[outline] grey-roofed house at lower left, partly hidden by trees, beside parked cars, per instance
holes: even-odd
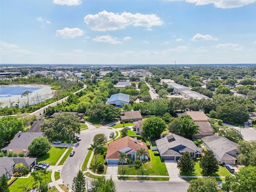
[[[25,157],[0,157],[0,175],[6,175],[7,179],[10,179],[13,172],[17,171],[14,165],[22,163],[27,166],[29,170],[36,164],[36,158],[25,158]]]

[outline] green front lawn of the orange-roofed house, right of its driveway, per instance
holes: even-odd
[[[150,162],[143,164],[144,175],[168,175],[164,162],[161,162],[160,156],[154,156],[152,150],[148,150],[150,154]],[[126,175],[141,175],[141,167],[123,166]],[[122,166],[118,166],[118,174],[122,174]]]

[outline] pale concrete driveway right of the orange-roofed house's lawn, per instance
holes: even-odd
[[[165,163],[166,169],[168,171],[168,174],[170,176],[169,181],[185,182],[180,177],[180,169],[177,167],[176,161],[174,161],[174,160],[165,160],[164,163]]]

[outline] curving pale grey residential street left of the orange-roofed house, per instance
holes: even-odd
[[[80,133],[81,140],[77,142],[74,147],[75,154],[73,157],[68,157],[65,161],[62,170],[60,171],[60,177],[64,184],[68,187],[72,187],[73,178],[76,176],[78,170],[82,169],[82,164],[88,153],[88,147],[92,144],[94,135],[98,133],[104,133],[109,137],[112,129],[108,128],[92,128],[84,130]]]

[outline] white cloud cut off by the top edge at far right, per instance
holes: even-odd
[[[178,1],[178,0],[169,0],[169,1]],[[214,4],[216,8],[222,8],[222,9],[242,7],[242,6],[256,2],[256,0],[185,0],[185,1],[188,3],[194,3],[196,5]]]

